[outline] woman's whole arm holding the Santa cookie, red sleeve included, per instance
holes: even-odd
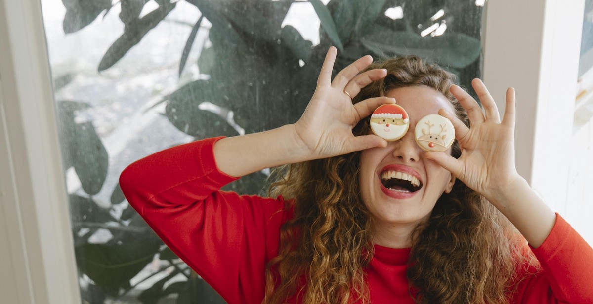
[[[278,252],[280,225],[291,215],[283,201],[219,191],[242,175],[276,165],[385,146],[375,135],[352,128],[380,104],[378,97],[356,105],[361,87],[385,76],[359,73],[365,56],[331,81],[336,49],[327,53],[315,94],[295,124],[267,132],[208,139],[176,146],[127,167],[120,185],[130,205],[180,258],[229,303],[260,303],[265,264]]]

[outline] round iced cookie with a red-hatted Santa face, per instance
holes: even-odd
[[[371,130],[386,140],[398,140],[410,127],[406,110],[397,104],[384,104],[371,115]]]

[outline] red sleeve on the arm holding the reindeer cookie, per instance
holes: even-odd
[[[512,303],[593,303],[593,249],[563,219],[531,248],[541,270],[521,282]]]

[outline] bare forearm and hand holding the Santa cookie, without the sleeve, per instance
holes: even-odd
[[[240,177],[264,168],[387,145],[387,141],[376,135],[355,137],[352,129],[379,105],[395,100],[377,97],[353,105],[345,94],[346,91],[356,96],[361,88],[384,78],[387,71],[374,69],[360,73],[372,62],[371,56],[364,56],[337,73],[332,81],[336,52],[335,47],[327,52],[315,93],[297,123],[216,143],[216,163],[222,172]]]

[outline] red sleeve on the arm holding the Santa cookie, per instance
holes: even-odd
[[[122,172],[120,186],[165,244],[228,303],[260,303],[265,265],[278,253],[289,215],[282,198],[220,191],[237,178],[216,167],[218,139],[147,156]]]

